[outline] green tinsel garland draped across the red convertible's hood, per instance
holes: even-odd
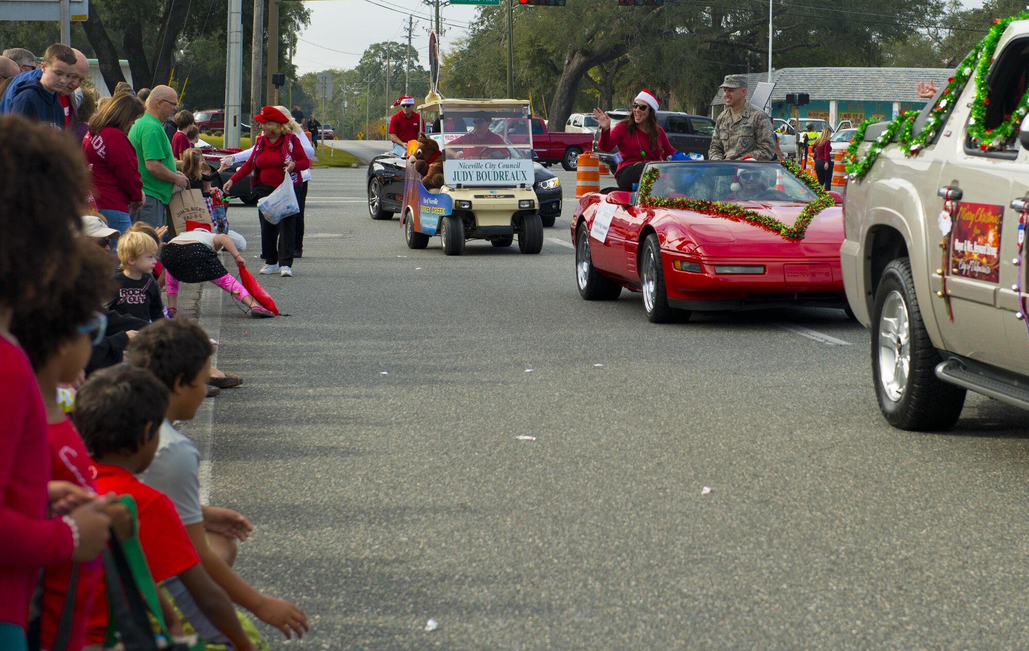
[[[814,192],[816,196],[814,201],[808,203],[808,205],[801,210],[801,214],[796,217],[796,221],[792,226],[786,226],[774,217],[761,215],[760,213],[755,213],[754,210],[748,210],[747,208],[739,206],[735,203],[650,196],[650,190],[653,188],[653,184],[661,174],[661,170],[657,166],[651,166],[650,169],[643,175],[643,178],[640,179],[639,205],[643,207],[691,210],[694,213],[701,213],[703,215],[719,217],[733,221],[743,220],[753,224],[754,226],[765,228],[773,233],[781,235],[784,239],[804,239],[804,235],[808,230],[808,226],[811,225],[811,221],[815,219],[816,215],[825,208],[836,205],[836,199],[833,199],[832,195],[822,188],[818,181],[815,180],[809,171],[802,170],[796,163],[783,160],[782,166],[793,175],[801,183],[807,186],[809,190]]]

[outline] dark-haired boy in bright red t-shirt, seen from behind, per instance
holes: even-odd
[[[201,566],[175,505],[135,476],[153,459],[167,410],[165,385],[150,372],[129,365],[94,373],[75,396],[75,423],[96,460],[97,488],[136,499],[139,541],[153,580],[177,576],[201,611],[232,641],[233,649],[253,651],[225,591]],[[86,644],[102,644],[106,630],[107,596],[101,583]]]

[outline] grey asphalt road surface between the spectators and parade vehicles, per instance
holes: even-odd
[[[295,276],[260,277],[289,316],[204,290],[245,378],[187,428],[205,494],[313,622],[273,648],[1029,646],[1026,413],[890,428],[841,311],[582,301],[560,175],[540,255],[447,258],[368,219],[363,169],[319,169]],[[256,269],[256,210],[228,219]]]

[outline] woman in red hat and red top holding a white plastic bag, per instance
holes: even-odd
[[[290,129],[288,114],[267,106],[254,116],[254,121],[260,125],[260,136],[247,162],[225,182],[223,191],[226,195],[233,184],[251,173],[254,176],[254,191],[259,197],[272,194],[287,174],[296,188],[304,182],[300,173],[311,167],[311,159],[305,153],[303,144]],[[278,224],[270,224],[261,216],[260,238],[261,250],[267,255],[260,272],[278,271],[279,275],[292,276],[296,216],[283,218]]]

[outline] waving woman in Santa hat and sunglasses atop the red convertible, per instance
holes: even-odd
[[[658,100],[644,88],[633,101],[632,115],[611,128],[611,118],[600,109],[593,110],[600,125],[601,151],[618,150],[622,161],[614,170],[620,190],[632,190],[640,182],[648,160],[665,160],[675,153],[665,129],[658,126]]]

